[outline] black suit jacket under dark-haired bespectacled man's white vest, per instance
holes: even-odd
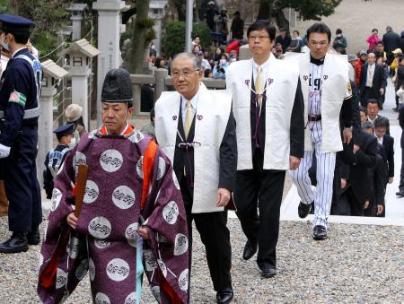
[[[254,78],[251,77],[251,87],[255,91]],[[265,94],[264,94],[265,95]],[[255,102],[255,93],[251,91],[250,96],[250,126],[251,126],[251,149],[252,158],[254,159],[256,152],[260,151],[261,158],[264,155],[265,148],[265,120],[266,120],[266,102],[264,98],[261,105],[261,113],[257,109]],[[257,125],[257,117],[259,123]],[[256,132],[256,126],[258,131]],[[273,130],[277,132],[277,130]],[[304,155],[304,100],[300,79],[297,83],[296,92],[294,95],[294,107],[290,118],[290,155],[303,158]],[[262,161],[262,160],[261,160]],[[259,161],[259,162],[261,162]]]

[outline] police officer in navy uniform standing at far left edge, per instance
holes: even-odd
[[[35,159],[42,67],[26,46],[34,22],[9,14],[0,14],[0,22],[0,43],[12,54],[0,82],[0,169],[13,231],[0,244],[0,253],[17,253],[40,243],[42,209]]]

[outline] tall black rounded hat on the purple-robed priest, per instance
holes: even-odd
[[[101,91],[102,102],[132,102],[130,74],[123,68],[112,69],[105,76]]]

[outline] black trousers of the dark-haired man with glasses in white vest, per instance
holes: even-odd
[[[259,244],[257,264],[260,268],[277,265],[279,213],[285,183],[285,170],[262,168],[263,158],[256,152],[253,169],[237,171],[234,190],[242,230],[247,239]]]

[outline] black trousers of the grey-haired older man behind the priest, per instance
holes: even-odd
[[[191,213],[193,188],[185,178],[180,182],[182,199],[187,212],[189,231],[189,278],[192,261],[192,221],[195,221],[200,239],[205,246],[206,260],[215,291],[232,287],[230,268],[232,267],[232,248],[230,231],[227,228],[227,211],[217,213]]]

